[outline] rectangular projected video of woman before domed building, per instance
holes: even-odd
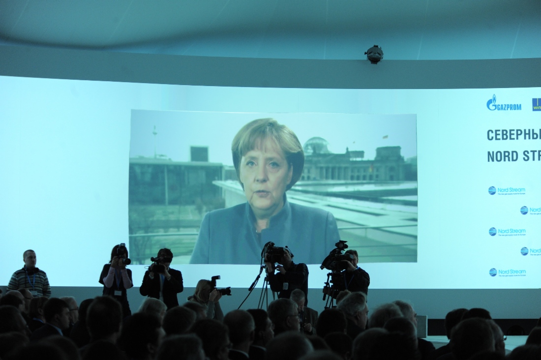
[[[266,118],[298,150],[255,134],[234,163],[235,135]],[[321,264],[339,239],[360,263],[417,261],[415,115],[132,110],[130,132],[135,264],[163,247],[177,264],[260,264],[268,241]]]

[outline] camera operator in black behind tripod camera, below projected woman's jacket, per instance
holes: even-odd
[[[289,299],[291,292],[300,289],[305,293],[305,305],[308,304],[308,267],[306,264],[293,263],[293,254],[287,248],[283,248],[282,257],[278,266],[274,267],[271,256],[265,254],[265,265],[267,266],[267,280],[271,290],[278,292],[279,299]],[[277,261],[278,262],[278,261]],[[274,273],[278,270],[278,273]]]

